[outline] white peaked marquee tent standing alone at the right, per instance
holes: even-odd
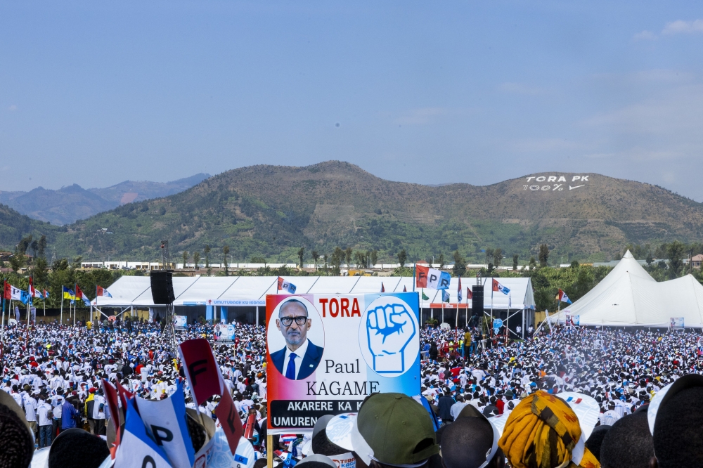
[[[567,314],[581,325],[669,327],[683,318],[685,327],[703,326],[703,286],[685,275],[657,282],[630,251],[593,290],[550,320],[565,323]]]

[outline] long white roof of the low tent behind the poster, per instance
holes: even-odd
[[[286,276],[297,294],[364,294],[413,290],[413,278],[400,276]],[[277,276],[195,276],[173,279],[174,306],[264,306],[266,294],[276,294]],[[534,294],[529,278],[496,278],[510,289],[510,294],[494,292],[491,302],[491,278],[484,282],[484,308],[512,309],[534,308]],[[462,304],[466,304],[466,288],[476,284],[473,278],[462,278]],[[457,304],[459,278],[451,278],[449,303]],[[151,280],[148,276],[122,276],[108,288],[112,297],[98,297],[97,305],[103,307],[153,307]],[[420,307],[439,307],[441,292],[424,290],[429,300],[420,297]],[[431,305],[432,304],[432,305]],[[471,304],[471,301],[468,301]],[[449,305],[448,305],[449,306]]]

